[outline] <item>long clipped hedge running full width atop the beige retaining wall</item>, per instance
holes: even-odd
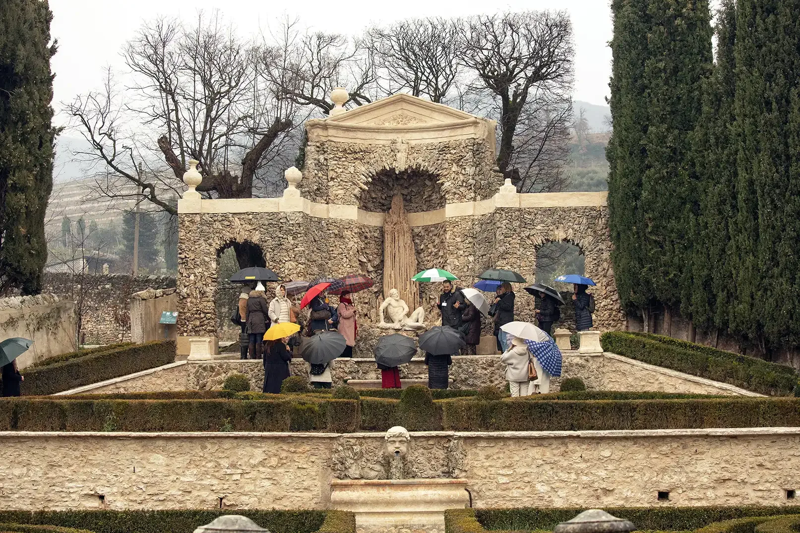
[[[800,399],[0,399],[0,431],[585,431],[800,427]],[[248,395],[250,393],[238,393]],[[564,393],[577,394],[577,393]],[[586,394],[586,393],[582,393]],[[83,398],[86,398],[83,397]]]

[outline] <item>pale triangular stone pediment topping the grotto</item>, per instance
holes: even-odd
[[[349,126],[436,126],[464,120],[474,115],[450,106],[429,102],[408,94],[394,94],[377,102],[359,106],[328,118],[326,122]]]

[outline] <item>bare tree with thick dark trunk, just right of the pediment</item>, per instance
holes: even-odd
[[[462,62],[499,101],[498,167],[519,186],[522,176],[514,166],[514,145],[519,139],[518,126],[526,115],[533,119],[534,128],[555,134],[553,142],[560,141],[563,130],[553,120],[564,118],[567,128],[572,122],[574,48],[570,18],[564,11],[469,18],[462,31],[462,50]],[[530,100],[534,100],[532,107]],[[564,112],[567,102],[569,114]],[[523,135],[522,139],[530,138],[531,146],[539,146],[534,154],[545,154],[549,143],[541,134],[535,137]],[[531,165],[530,156],[527,159]]]

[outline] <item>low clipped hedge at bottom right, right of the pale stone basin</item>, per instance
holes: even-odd
[[[630,520],[638,531],[697,530],[697,533],[753,533],[754,527],[761,523],[766,525],[770,520],[777,518],[776,515],[800,515],[800,506],[602,507],[602,509],[617,518]],[[586,508],[450,509],[445,511],[445,531],[446,533],[553,531],[558,523],[573,519],[583,511],[586,511]],[[787,532],[760,531],[759,533]]]

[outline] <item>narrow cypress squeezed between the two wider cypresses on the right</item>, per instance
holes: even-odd
[[[695,324],[726,329],[733,274],[729,224],[736,214],[734,0],[722,0],[717,18],[716,63],[703,84],[702,119],[694,132],[699,213],[692,250],[691,294],[683,302],[690,303]]]

